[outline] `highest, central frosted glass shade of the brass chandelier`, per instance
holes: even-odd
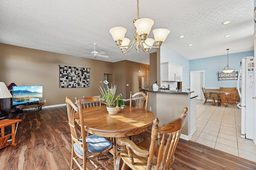
[[[153,24],[154,21],[149,18],[140,18],[134,22],[134,25],[139,35],[149,34]]]

